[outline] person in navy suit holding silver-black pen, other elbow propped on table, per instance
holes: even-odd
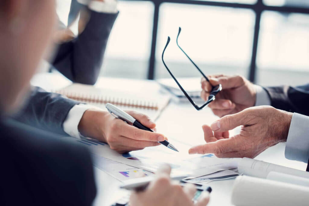
[[[66,27],[57,18],[57,29],[53,33],[56,52],[47,61],[75,83],[95,84],[118,13],[116,0],[73,0],[68,18],[69,26]],[[77,36],[70,30],[76,20]],[[155,129],[155,123],[146,115],[134,111],[128,113],[146,127]],[[143,131],[115,119],[106,110],[46,92],[39,87],[32,87],[28,103],[14,118],[24,124],[64,136],[80,138],[83,135],[95,138],[108,143],[110,148],[120,153],[158,146],[158,141],[165,139],[162,134]]]

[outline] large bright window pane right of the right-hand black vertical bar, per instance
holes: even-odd
[[[309,15],[265,11],[257,54],[259,84],[303,84],[309,75]]]

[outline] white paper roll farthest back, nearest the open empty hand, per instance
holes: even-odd
[[[258,161],[246,157],[242,158],[239,161],[238,171],[239,173],[259,178],[266,178],[271,171],[280,172],[283,174],[290,174],[302,178],[309,178],[309,172],[275,165],[268,162]]]

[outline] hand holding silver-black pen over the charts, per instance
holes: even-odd
[[[155,129],[155,123],[144,114],[127,111],[146,127]],[[110,148],[120,153],[140,150],[145,147],[158,146],[158,141],[165,137],[156,132],[150,132],[133,127],[124,121],[114,118],[108,112],[88,109],[78,124],[78,131],[83,135],[106,142]]]

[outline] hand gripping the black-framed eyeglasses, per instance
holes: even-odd
[[[210,75],[212,85],[222,85],[222,91],[216,95],[216,99],[208,107],[219,117],[227,114],[235,114],[248,107],[252,107],[256,101],[256,89],[254,84],[242,76]],[[201,97],[205,101],[211,91],[211,84],[205,78],[201,80]]]

